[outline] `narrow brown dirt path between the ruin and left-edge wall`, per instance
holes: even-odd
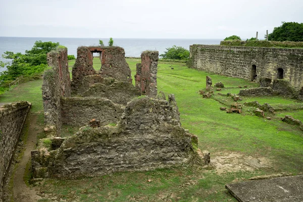
[[[30,151],[34,149],[37,141],[37,133],[41,131],[41,129],[38,129],[39,126],[36,124],[37,115],[29,113],[28,116],[29,129],[27,143],[24,145],[24,155],[14,174],[14,201],[18,202],[37,201],[41,198],[40,196],[36,195],[36,192],[33,189],[27,187],[23,180],[26,164],[28,161],[30,161]]]

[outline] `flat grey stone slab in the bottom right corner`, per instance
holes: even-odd
[[[250,180],[225,188],[240,202],[303,201],[303,175]]]

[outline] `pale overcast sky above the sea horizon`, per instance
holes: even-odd
[[[0,36],[250,38],[303,22],[303,0],[0,0]]]

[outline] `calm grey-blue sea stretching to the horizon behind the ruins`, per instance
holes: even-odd
[[[0,37],[0,60],[5,61],[2,55],[6,51],[14,53],[25,53],[30,50],[35,41],[60,42],[68,48],[68,55],[77,57],[77,47],[81,45],[98,45],[99,39],[107,45],[109,38],[39,38],[39,37]],[[125,49],[125,56],[140,57],[141,52],[146,50],[159,51],[163,54],[165,48],[173,45],[189,49],[192,44],[220,44],[221,39],[135,39],[135,38],[114,38],[114,45]],[[0,69],[2,71],[4,69]]]

